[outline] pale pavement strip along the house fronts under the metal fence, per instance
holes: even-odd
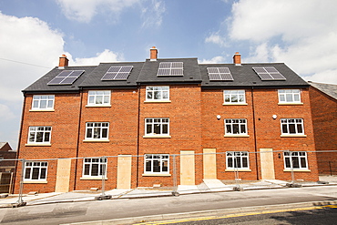
[[[291,184],[295,184],[291,186]],[[263,179],[255,181],[244,180],[226,180],[204,179],[199,185],[179,185],[177,189],[167,187],[144,187],[137,189],[110,189],[104,193],[100,190],[75,190],[66,193],[50,192],[50,193],[31,193],[22,195],[20,201],[19,196],[0,194],[0,208],[15,208],[22,205],[41,205],[59,202],[76,202],[100,199],[133,199],[133,198],[149,198],[163,197],[172,195],[183,195],[193,193],[207,193],[220,191],[241,191],[252,189],[284,189],[337,185],[336,176],[322,176],[318,182],[306,182],[297,180],[289,182],[279,179]],[[24,204],[22,204],[24,202]]]

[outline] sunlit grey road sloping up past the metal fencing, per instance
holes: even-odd
[[[114,220],[139,217],[149,220],[151,215],[161,218],[178,218],[210,215],[217,210],[230,213],[242,209],[258,210],[259,207],[301,202],[335,202],[336,186],[293,189],[261,189],[248,191],[214,192],[147,199],[110,199],[101,201],[56,203],[26,206],[17,209],[0,209],[0,221],[5,224],[61,224],[92,220]],[[250,208],[247,208],[250,207]],[[231,210],[230,210],[231,209]],[[194,212],[198,211],[198,212]],[[181,214],[179,215],[181,216]],[[152,218],[152,220],[156,220]],[[158,220],[158,219],[157,219]]]

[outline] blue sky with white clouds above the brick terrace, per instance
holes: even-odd
[[[337,84],[336,0],[0,0],[0,142],[17,148],[22,90],[58,66],[198,57],[281,62]]]

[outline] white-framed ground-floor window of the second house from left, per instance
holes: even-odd
[[[83,177],[102,177],[106,176],[106,172],[107,159],[84,159]]]

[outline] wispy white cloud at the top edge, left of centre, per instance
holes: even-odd
[[[97,14],[118,17],[121,11],[140,0],[56,0],[68,19],[88,23]]]

